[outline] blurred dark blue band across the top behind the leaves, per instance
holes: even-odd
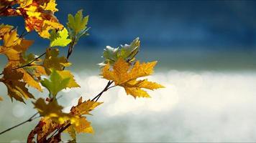
[[[118,46],[140,36],[144,46],[163,49],[256,49],[255,1],[57,2],[56,16],[62,23],[78,9],[90,15],[91,35],[80,42],[84,48]],[[21,18],[1,22],[23,25]]]

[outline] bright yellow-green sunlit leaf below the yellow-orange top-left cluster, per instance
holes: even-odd
[[[50,33],[50,46],[67,46],[71,42],[71,39],[68,39],[68,30],[63,29],[58,32],[52,30]]]

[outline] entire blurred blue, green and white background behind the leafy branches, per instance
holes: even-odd
[[[165,89],[150,99],[127,96],[116,87],[100,99],[104,104],[88,117],[95,134],[78,142],[256,142],[256,2],[255,1],[68,1],[57,0],[56,16],[83,9],[90,36],[79,41],[70,61],[81,88],[66,89],[65,111],[78,98],[90,99],[104,88],[99,76],[105,46],[129,44],[137,36],[137,59],[157,60],[155,82]],[[1,23],[24,30],[22,17],[1,17]],[[49,43],[32,32],[29,49],[41,54]],[[62,49],[65,55],[67,49]],[[6,59],[1,56],[1,69]],[[29,106],[6,96],[0,85],[0,130],[34,114]],[[31,89],[38,97],[45,97]],[[24,142],[36,122],[0,136],[0,142]],[[64,137],[68,139],[68,135]]]

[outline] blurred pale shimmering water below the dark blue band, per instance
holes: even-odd
[[[40,53],[40,51],[39,51]],[[206,54],[207,53],[207,54]],[[79,97],[90,99],[106,84],[99,76],[101,51],[78,50],[70,61],[81,88],[60,94],[65,112]],[[95,134],[79,134],[78,142],[255,142],[255,54],[251,52],[183,52],[142,49],[138,59],[158,60],[150,80],[165,89],[150,91],[150,99],[134,99],[124,89],[113,88],[88,117]],[[1,59],[1,67],[4,66]],[[27,105],[6,96],[0,86],[0,129],[6,129],[34,114]],[[45,97],[30,90],[36,97]],[[0,142],[25,142],[36,122],[24,124],[0,136]],[[68,140],[68,135],[63,137]]]

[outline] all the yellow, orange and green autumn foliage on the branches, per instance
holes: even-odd
[[[163,88],[160,84],[141,79],[153,74],[157,61],[141,63],[135,59],[140,51],[140,39],[137,38],[131,44],[117,48],[106,46],[104,61],[99,64],[101,77],[109,80],[106,87],[93,99],[83,100],[81,97],[69,113],[63,112],[63,107],[58,104],[58,93],[63,89],[80,87],[66,68],[71,65],[68,58],[79,39],[88,36],[88,16],[83,16],[82,11],[74,16],[69,14],[67,24],[63,25],[54,16],[58,11],[55,0],[1,0],[0,4],[0,16],[22,16],[27,31],[18,35],[14,26],[0,25],[0,54],[8,59],[0,82],[6,85],[6,94],[12,101],[16,99],[34,104],[37,113],[27,122],[41,118],[28,135],[27,142],[61,142],[63,133],[70,134],[69,142],[76,142],[76,134],[93,133],[91,122],[86,117],[103,103],[98,102],[99,98],[112,87],[123,87],[134,98],[150,97],[145,89]],[[36,31],[40,37],[50,41],[40,56],[27,54],[33,41],[24,39],[24,36],[30,31]],[[67,47],[66,56],[59,55],[60,46]],[[39,92],[43,92],[42,87],[45,87],[48,91],[45,96],[35,99],[28,87]]]

